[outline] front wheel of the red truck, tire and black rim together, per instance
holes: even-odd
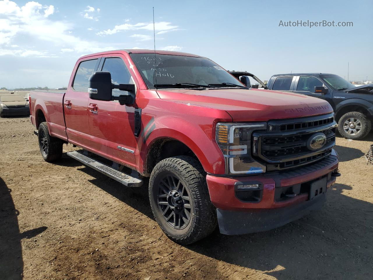
[[[194,243],[216,228],[216,209],[203,173],[190,156],[164,159],[151,172],[151,209],[164,233],[176,243]]]

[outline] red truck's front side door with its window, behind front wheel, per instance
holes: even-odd
[[[103,56],[102,60],[98,71],[109,71],[113,84],[134,84],[124,56]],[[113,96],[123,93],[113,89]],[[88,108],[94,152],[135,168],[134,105],[120,105],[117,100],[88,99]]]

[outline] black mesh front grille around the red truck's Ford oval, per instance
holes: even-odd
[[[333,114],[300,119],[269,121],[266,132],[254,133],[254,157],[264,161],[267,171],[294,168],[330,155],[335,145],[336,123]],[[316,133],[326,136],[319,150],[307,141]]]

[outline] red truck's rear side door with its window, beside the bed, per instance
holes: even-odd
[[[63,101],[69,142],[83,148],[89,148],[91,143],[88,121],[88,78],[97,69],[100,59],[101,56],[92,56],[76,63],[74,78]]]

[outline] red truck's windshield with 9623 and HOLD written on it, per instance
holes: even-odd
[[[159,54],[154,57],[150,53],[131,53],[131,58],[148,88],[156,88],[156,83],[184,84],[178,87],[187,87],[185,84],[232,86],[229,83],[242,86],[236,78],[207,58]]]

